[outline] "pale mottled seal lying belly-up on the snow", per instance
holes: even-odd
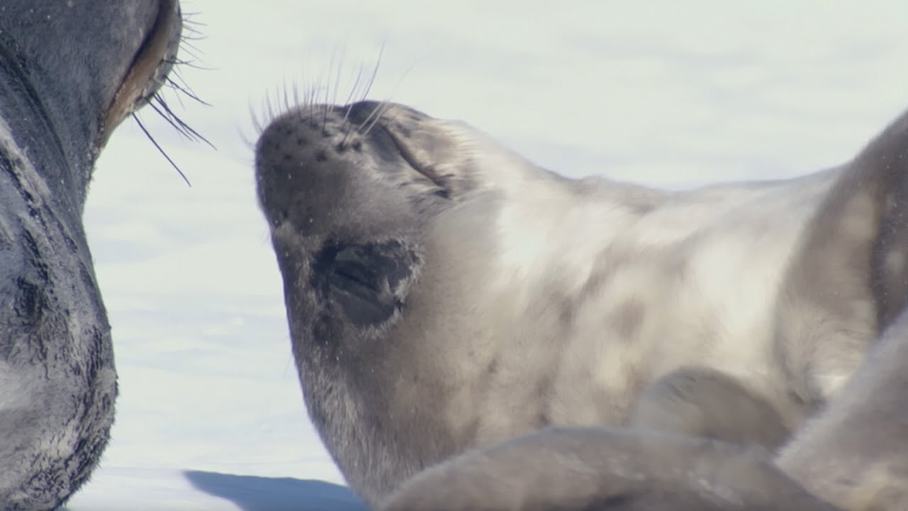
[[[684,192],[568,179],[403,105],[300,105],[256,146],[303,395],[350,486],[379,506],[450,460],[389,509],[450,495],[459,471],[489,491],[455,486],[468,504],[451,508],[908,507],[908,439],[864,448],[908,409],[893,347],[908,337],[906,171],[908,115],[844,165]],[[868,358],[879,349],[895,369]],[[705,397],[735,395],[765,424]],[[534,434],[548,426],[597,433]],[[626,466],[559,455],[577,435]],[[534,452],[550,463],[528,477],[574,460],[597,475],[593,500],[494,500],[545,489],[519,484]],[[685,476],[718,459],[700,465],[715,477]],[[665,486],[599,491],[627,476]]]

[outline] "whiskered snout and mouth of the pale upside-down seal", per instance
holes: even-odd
[[[295,216],[306,232],[341,206],[370,217],[392,204],[437,211],[475,187],[467,138],[403,105],[297,106],[259,138],[259,199],[272,225]]]

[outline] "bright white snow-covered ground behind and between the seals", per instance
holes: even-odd
[[[254,7],[252,6],[254,5]],[[183,118],[217,150],[126,122],[85,221],[121,395],[103,466],[67,509],[341,511],[302,406],[254,199],[266,97],[322,87],[460,118],[568,175],[672,187],[842,162],[908,106],[908,3],[185,0],[205,39]],[[183,54],[183,56],[186,56]],[[292,94],[290,94],[292,96]],[[169,95],[180,111],[176,95]],[[380,467],[376,467],[380,469]]]

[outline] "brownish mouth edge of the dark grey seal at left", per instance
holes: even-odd
[[[142,45],[133,57],[133,63],[114,94],[104,115],[98,140],[103,147],[114,128],[127,116],[147,105],[153,95],[164,85],[165,77],[173,69],[183,33],[183,16],[178,0],[161,0],[158,15]]]

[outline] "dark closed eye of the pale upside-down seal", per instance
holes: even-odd
[[[418,258],[400,241],[330,243],[315,255],[312,286],[340,306],[355,326],[379,326],[403,305]]]

